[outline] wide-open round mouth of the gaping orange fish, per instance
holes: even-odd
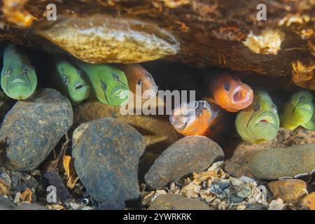
[[[237,104],[248,104],[253,101],[253,90],[246,84],[239,85],[231,91],[232,102]]]

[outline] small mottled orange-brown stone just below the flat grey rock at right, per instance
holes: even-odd
[[[298,179],[272,181],[268,186],[274,197],[280,197],[286,203],[297,204],[307,195],[307,183]]]

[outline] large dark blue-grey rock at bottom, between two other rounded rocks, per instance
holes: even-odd
[[[138,162],[146,142],[137,130],[114,118],[83,123],[73,132],[74,166],[87,193],[99,202],[139,197]]]

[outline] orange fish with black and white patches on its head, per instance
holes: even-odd
[[[216,139],[225,129],[225,111],[204,100],[184,102],[169,116],[175,130],[183,135],[205,136]]]

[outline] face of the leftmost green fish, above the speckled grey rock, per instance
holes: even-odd
[[[1,72],[1,87],[8,97],[13,99],[27,99],[36,90],[37,78],[32,66],[4,67]]]

